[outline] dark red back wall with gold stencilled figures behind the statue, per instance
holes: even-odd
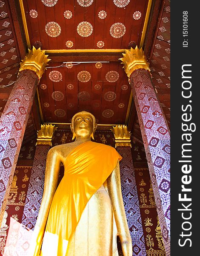
[[[60,129],[54,133],[52,140],[52,146],[70,143],[71,142],[71,131],[69,129]],[[104,143],[114,147],[114,136],[109,130],[97,130],[94,135],[95,141],[98,143]],[[13,180],[13,188],[10,192],[10,200],[6,206],[7,216],[5,215],[4,227],[0,228],[0,256],[3,256],[4,246],[6,244],[6,236],[9,230],[10,217],[21,223],[23,217],[24,204],[26,202],[27,189],[29,187],[29,180],[31,175],[31,168],[34,160],[36,139],[30,140],[28,143],[23,144],[20,150],[17,167],[15,169],[15,175]],[[134,166],[134,178],[133,175],[129,175],[129,183],[135,182],[137,185],[138,202],[134,204],[139,205],[141,218],[138,219],[138,227],[143,229],[143,234],[139,237],[142,245],[134,248],[134,255],[148,255],[148,256],[165,256],[163,249],[163,243],[160,233],[160,226],[157,221],[157,210],[154,201],[154,195],[150,182],[149,170],[146,162],[146,154],[144,147],[137,140],[131,139],[131,153],[132,162]],[[122,166],[120,166],[122,168]],[[122,171],[122,170],[121,170]],[[123,173],[121,172],[121,180],[123,179]],[[17,177],[17,178],[16,178]],[[60,167],[59,182],[63,177],[63,166]],[[135,180],[135,181],[134,181]],[[127,181],[127,180],[126,180]],[[126,181],[122,180],[122,183]],[[124,186],[122,186],[123,190]],[[129,191],[129,198],[127,199],[128,193],[123,193],[123,201],[125,205],[125,211],[127,219],[131,214],[134,214],[132,209],[133,200],[130,195],[134,195],[132,189]],[[128,216],[129,215],[129,216]],[[129,226],[129,230],[132,236],[137,233],[137,224]],[[120,242],[118,242],[119,256],[122,256],[122,250]],[[27,248],[24,249],[26,255]],[[144,254],[144,251],[146,254]],[[22,255],[22,254],[21,254]]]

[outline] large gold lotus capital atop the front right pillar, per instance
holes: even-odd
[[[123,68],[129,78],[134,70],[142,68],[150,71],[149,62],[147,61],[142,48],[139,49],[136,46],[135,49],[132,47],[130,50],[125,49],[125,53],[122,53],[122,55],[123,58],[120,58],[119,60],[122,61],[121,64],[123,64]]]

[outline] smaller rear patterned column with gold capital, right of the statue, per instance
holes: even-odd
[[[121,188],[126,218],[131,234],[133,255],[146,255],[143,227],[131,154],[131,134],[125,125],[116,125],[112,130],[115,146],[123,157],[120,161]]]

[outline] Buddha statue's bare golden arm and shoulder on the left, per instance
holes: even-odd
[[[34,227],[33,237],[31,240],[30,256],[38,256],[43,241],[46,222],[49,215],[54,193],[57,189],[57,181],[60,170],[60,156],[54,148],[51,148],[47,154],[46,171],[43,198],[40,205],[40,211]]]

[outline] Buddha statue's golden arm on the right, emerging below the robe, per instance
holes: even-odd
[[[117,225],[117,234],[119,235],[122,245],[123,255],[132,256],[132,242],[127,224],[126,213],[123,205],[120,182],[120,166],[119,161],[109,178],[107,179],[109,195],[114,212],[114,218]]]

